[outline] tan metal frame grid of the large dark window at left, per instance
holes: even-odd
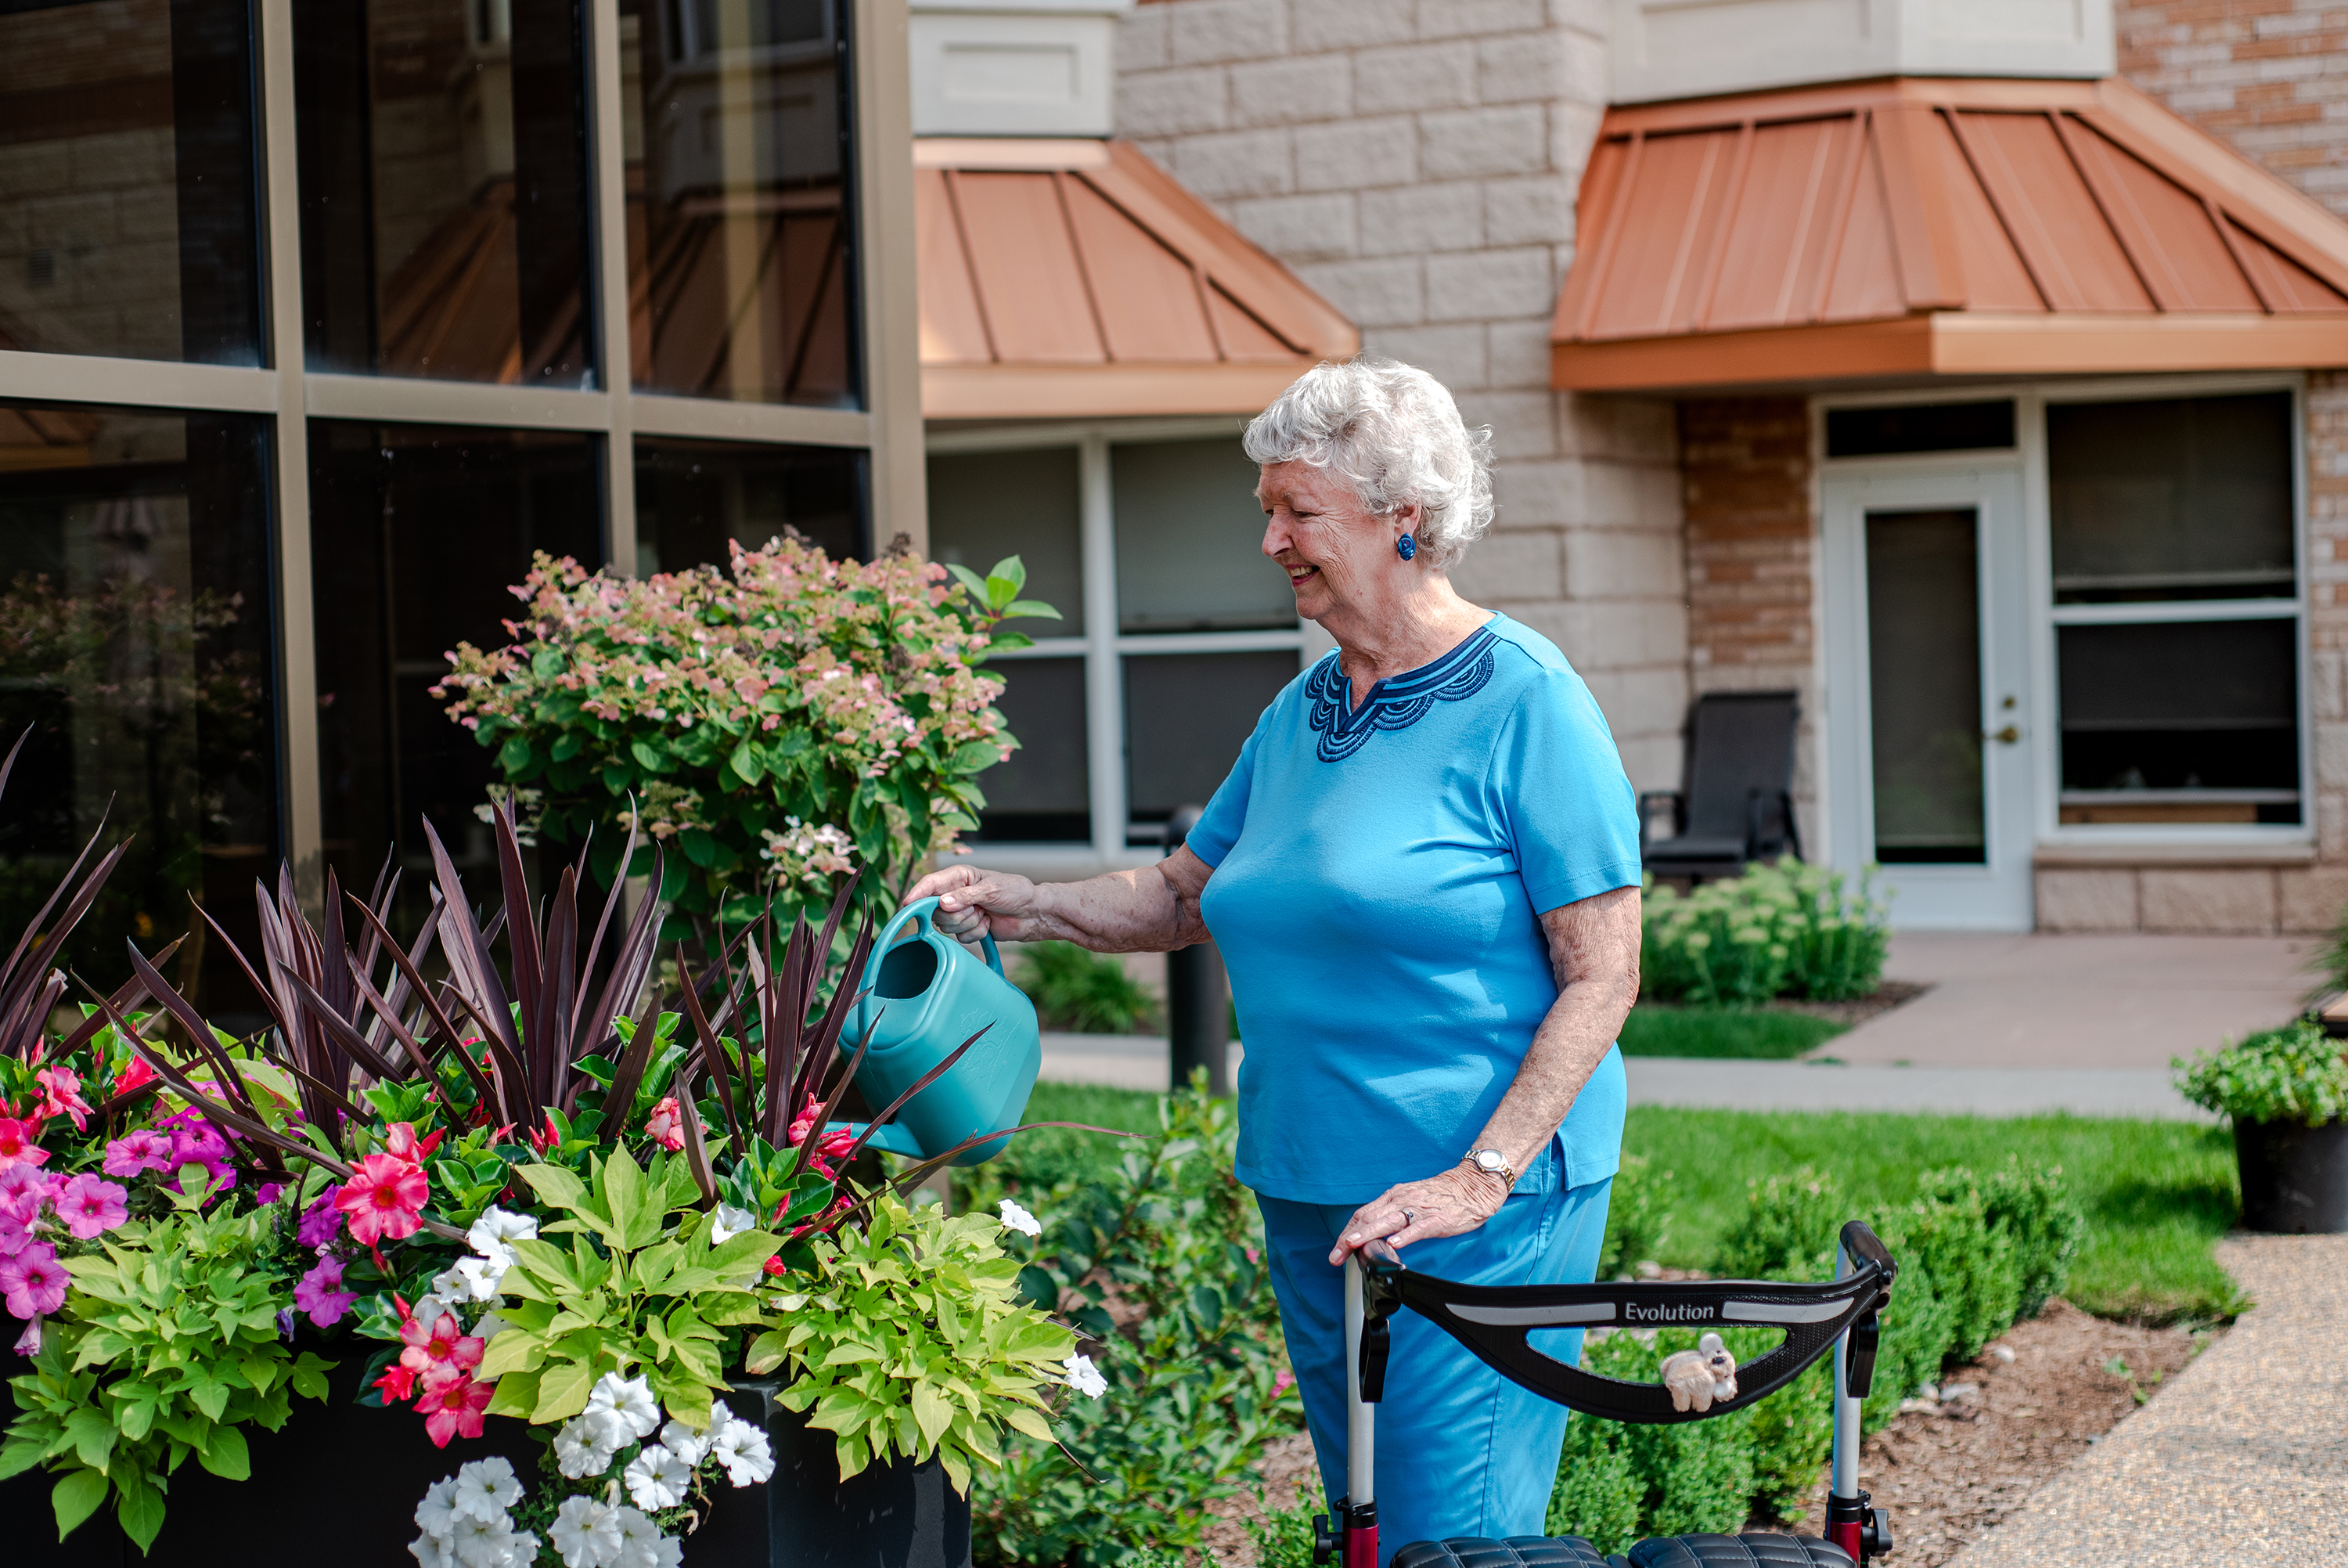
[[[308,420],[566,430],[601,437],[603,561],[636,561],[636,437],[845,446],[869,453],[873,540],[909,533],[927,545],[920,350],[913,244],[911,73],[902,9],[885,0],[838,0],[845,21],[855,169],[848,188],[857,225],[855,322],[864,408],[737,404],[636,392],[629,364],[627,204],[622,146],[622,38],[618,0],[575,0],[587,77],[589,270],[599,390],[500,387],[456,380],[312,373],[303,364],[301,200],[296,188],[294,5],[251,0],[258,117],[256,218],[263,270],[263,369],[0,350],[0,397],[38,404],[108,404],[157,413],[258,413],[270,418],[270,530],[275,688],[279,744],[279,843],[305,901],[322,897],[322,763],[317,650],[310,575]],[[477,7],[465,5],[467,38]],[[895,26],[890,26],[895,16]],[[834,23],[838,26],[838,21]]]

